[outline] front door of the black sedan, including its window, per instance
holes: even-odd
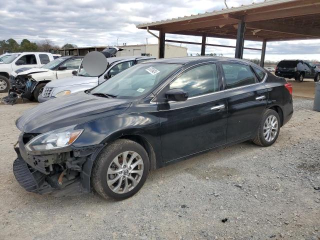
[[[224,144],[227,108],[216,64],[184,71],[161,91],[186,90],[186,101],[157,103],[164,162]],[[160,93],[161,94],[161,93]]]

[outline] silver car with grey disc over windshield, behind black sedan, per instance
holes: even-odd
[[[38,96],[38,102],[90,89],[117,73],[150,59],[155,58],[149,56],[116,56],[107,58],[108,67],[103,74],[90,76],[82,69],[75,76],[49,82],[45,85],[42,94]]]

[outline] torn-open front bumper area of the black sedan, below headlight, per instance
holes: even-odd
[[[91,167],[102,144],[33,153],[24,147],[31,135],[21,133],[14,147],[13,173],[26,191],[56,196],[90,191]]]

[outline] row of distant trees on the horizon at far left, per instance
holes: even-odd
[[[0,54],[4,50],[11,50],[12,52],[23,52],[23,51],[44,51],[48,52],[51,48],[72,48],[76,47],[75,44],[66,43],[61,47],[54,44],[50,39],[44,39],[38,42],[31,42],[28,39],[23,39],[20,43],[17,43],[13,38],[7,40],[0,40]]]

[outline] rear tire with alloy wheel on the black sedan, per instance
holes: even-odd
[[[276,128],[269,128],[272,127],[271,124],[269,125],[268,119],[276,119]],[[275,121],[274,121],[275,122]],[[275,125],[274,125],[275,127]],[[265,129],[267,128],[267,129]],[[276,130],[276,132],[275,132]],[[269,132],[269,135],[267,134]],[[272,132],[272,133],[271,133]],[[280,132],[280,117],[279,114],[272,109],[267,109],[260,121],[257,134],[256,136],[252,139],[253,143],[259,146],[270,146],[272,145],[275,141],[276,138],[278,137]]]

